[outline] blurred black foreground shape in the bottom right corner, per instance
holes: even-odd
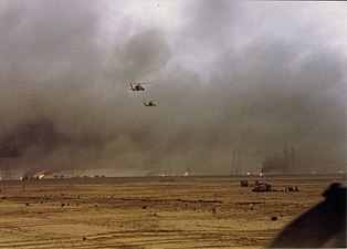
[[[346,248],[346,187],[332,184],[325,200],[287,225],[267,248]]]

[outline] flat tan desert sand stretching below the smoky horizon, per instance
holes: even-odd
[[[240,179],[43,179],[24,190],[0,181],[0,248],[263,248],[330,183],[346,184],[265,178],[301,191],[253,193]]]

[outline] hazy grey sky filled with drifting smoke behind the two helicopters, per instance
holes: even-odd
[[[0,167],[230,174],[238,147],[257,173],[293,146],[296,173],[346,170],[346,23],[345,2],[0,0]]]

